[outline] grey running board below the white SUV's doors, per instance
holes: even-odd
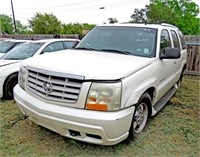
[[[167,102],[171,99],[171,97],[175,94],[177,88],[173,87],[171,88],[167,94],[165,94],[154,106],[154,110],[156,113],[158,113],[166,104]]]

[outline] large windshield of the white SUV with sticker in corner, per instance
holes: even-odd
[[[88,33],[76,49],[155,57],[156,29],[99,26]]]

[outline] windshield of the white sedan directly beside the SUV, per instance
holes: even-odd
[[[44,43],[25,43],[6,53],[2,59],[23,60],[32,57]]]

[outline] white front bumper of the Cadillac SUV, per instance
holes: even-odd
[[[14,98],[22,112],[38,125],[63,136],[100,145],[114,145],[127,138],[135,107],[100,112],[47,103],[25,92],[19,85]]]

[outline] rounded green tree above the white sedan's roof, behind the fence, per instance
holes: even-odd
[[[61,22],[53,14],[41,14],[36,15],[28,20],[29,27],[34,34],[59,34],[61,29]]]

